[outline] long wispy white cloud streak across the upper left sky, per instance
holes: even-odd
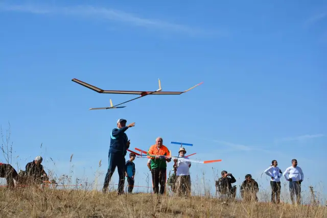
[[[88,17],[92,19],[102,19],[109,21],[125,22],[133,26],[158,29],[170,32],[186,33],[193,36],[198,35],[225,35],[223,32],[213,30],[201,30],[192,28],[176,23],[165,22],[155,19],[142,18],[137,15],[126,13],[123,11],[93,7],[93,6],[73,6],[73,7],[49,7],[49,6],[36,6],[36,5],[7,5],[0,4],[0,10],[10,12],[25,12],[32,14],[57,14],[57,15],[70,15],[79,17]]]

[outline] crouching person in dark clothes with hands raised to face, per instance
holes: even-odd
[[[216,181],[216,187],[221,195],[227,195],[228,198],[236,197],[236,186],[231,186],[231,183],[235,183],[236,179],[231,173],[227,171],[221,172],[221,177]]]

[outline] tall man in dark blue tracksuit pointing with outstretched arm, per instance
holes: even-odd
[[[125,183],[125,155],[127,149],[129,148],[129,140],[125,131],[134,127],[135,123],[126,126],[126,119],[119,119],[117,121],[117,128],[111,131],[110,148],[109,148],[109,163],[108,171],[104,180],[102,191],[105,193],[108,189],[108,185],[115,168],[118,168],[119,183],[118,183],[118,195],[124,193],[124,183]]]

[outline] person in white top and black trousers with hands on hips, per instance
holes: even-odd
[[[270,176],[270,186],[271,186],[271,202],[277,204],[280,202],[281,197],[281,176],[283,172],[277,166],[277,161],[271,161],[271,165],[268,169],[265,170],[265,174]]]

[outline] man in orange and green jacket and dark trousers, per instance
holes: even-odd
[[[163,140],[161,137],[156,138],[155,144],[150,147],[148,151],[148,158],[151,158],[151,174],[152,174],[152,184],[153,192],[159,193],[159,183],[160,183],[160,194],[165,193],[166,185],[166,172],[167,172],[167,162],[170,162],[172,158],[167,158],[164,156],[169,156],[169,150],[166,146],[162,144]],[[154,157],[152,155],[160,155],[162,157]]]

